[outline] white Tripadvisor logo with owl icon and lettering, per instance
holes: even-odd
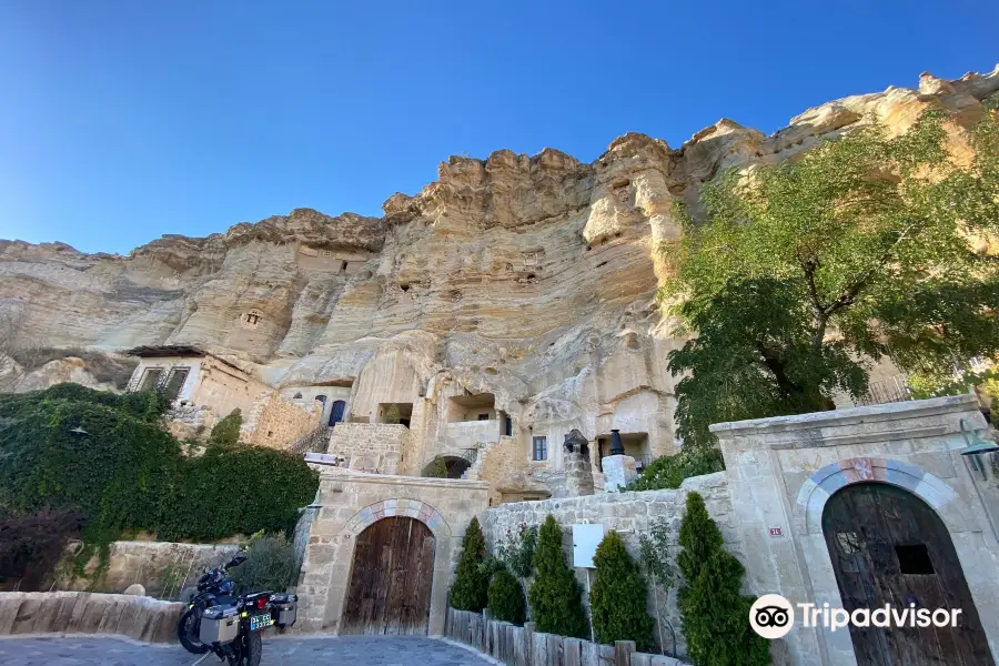
[[[829,604],[797,604],[801,626],[825,627],[830,632],[848,627],[957,627],[960,608],[917,608],[916,604],[897,608],[830,608]],[[795,624],[795,607],[779,594],[765,594],[749,607],[749,626],[764,638],[783,638]]]

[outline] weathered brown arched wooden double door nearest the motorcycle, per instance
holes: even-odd
[[[434,535],[414,518],[383,518],[357,537],[342,634],[425,635]]]

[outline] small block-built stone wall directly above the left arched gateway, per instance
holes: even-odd
[[[395,474],[411,462],[403,453],[413,451],[412,438],[410,428],[397,423],[337,423],[326,453],[347,458],[351,470]]]

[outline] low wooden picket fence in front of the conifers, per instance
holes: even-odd
[[[447,609],[444,636],[464,643],[507,666],[687,666],[674,657],[635,652],[632,640],[598,645],[534,630],[528,622],[517,627],[467,610]]]

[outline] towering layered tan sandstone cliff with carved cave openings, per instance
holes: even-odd
[[[960,112],[959,139],[997,90],[999,68],[924,74],[916,90],[829,102],[770,137],[730,120],[679,149],[630,133],[591,164],[552,149],[452,157],[382,218],[295,210],[128,256],[0,241],[0,302],[27,304],[30,334],[49,346],[192,344],[252,364],[283,393],[349,389],[346,421],[403,405],[412,470],[454,453],[465,432],[455,401],[490,395],[495,432],[465,428],[467,447],[487,456],[512,437],[523,468],[506,477],[549,474],[558,496],[558,443],[573,428],[591,441],[634,434],[627,453],[639,460],[674,450],[666,354],[677,342],[662,333],[655,292],[657,248],[680,233],[677,202],[696,214],[702,185],[726,169],[794,157],[871,119],[901,132],[947,108]],[[538,437],[546,457],[533,461]],[[592,448],[596,470],[607,452]]]

